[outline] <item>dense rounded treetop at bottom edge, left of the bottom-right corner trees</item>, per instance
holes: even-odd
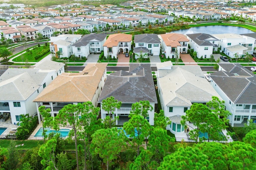
[[[164,161],[157,168],[158,170],[213,170],[213,165],[208,156],[198,148],[180,147],[176,152],[164,157]]]

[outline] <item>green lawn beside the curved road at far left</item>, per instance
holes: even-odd
[[[45,55],[43,55],[39,59],[35,60],[36,54],[39,53],[40,51],[42,51],[42,49],[44,49],[44,45],[41,45],[40,47],[35,47],[34,49],[30,50],[30,51],[32,51],[32,54],[30,54],[30,52],[26,52],[26,53],[16,57],[13,61],[16,61],[16,62],[26,62],[26,61],[28,61],[28,62],[38,62],[38,61],[42,60],[44,57],[46,57],[47,55],[50,54],[50,51],[49,51],[48,53],[46,53]]]

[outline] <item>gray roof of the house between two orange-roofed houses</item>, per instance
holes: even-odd
[[[138,34],[134,35],[134,43],[155,43],[160,44],[161,41],[157,34]]]

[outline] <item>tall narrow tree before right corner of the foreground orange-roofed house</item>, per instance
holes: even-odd
[[[80,137],[84,139],[84,170],[87,170],[86,161],[88,151],[90,150],[88,143],[92,140],[92,134],[101,129],[102,125],[101,119],[97,119],[100,108],[94,107],[92,102],[85,102],[83,105],[85,109],[81,114],[80,122],[84,128],[80,131]]]

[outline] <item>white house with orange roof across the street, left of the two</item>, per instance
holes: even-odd
[[[109,35],[108,39],[103,45],[104,56],[111,58],[117,58],[118,53],[124,53],[131,50],[132,35],[117,33]]]

